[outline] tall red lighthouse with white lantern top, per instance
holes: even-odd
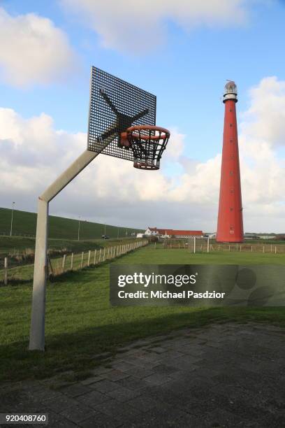
[[[217,242],[242,242],[242,191],[240,186],[240,159],[238,155],[238,128],[235,104],[238,92],[235,82],[225,86],[225,120],[223,154],[221,158],[221,185]]]

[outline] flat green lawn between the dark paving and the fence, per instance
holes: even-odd
[[[284,263],[282,255],[196,254],[149,246],[116,263]],[[253,258],[254,256],[254,258]],[[87,376],[119,345],[173,329],[228,320],[285,326],[285,308],[121,307],[109,304],[108,263],[58,278],[47,285],[46,352],[29,352],[31,283],[0,288],[0,378],[20,380],[57,375],[60,381]],[[64,374],[62,374],[64,373]]]

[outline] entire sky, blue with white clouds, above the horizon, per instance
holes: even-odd
[[[85,150],[92,65],[156,94],[159,171],[100,155],[50,214],[215,231],[226,79],[238,85],[244,231],[285,232],[285,1],[0,1],[0,206]]]

